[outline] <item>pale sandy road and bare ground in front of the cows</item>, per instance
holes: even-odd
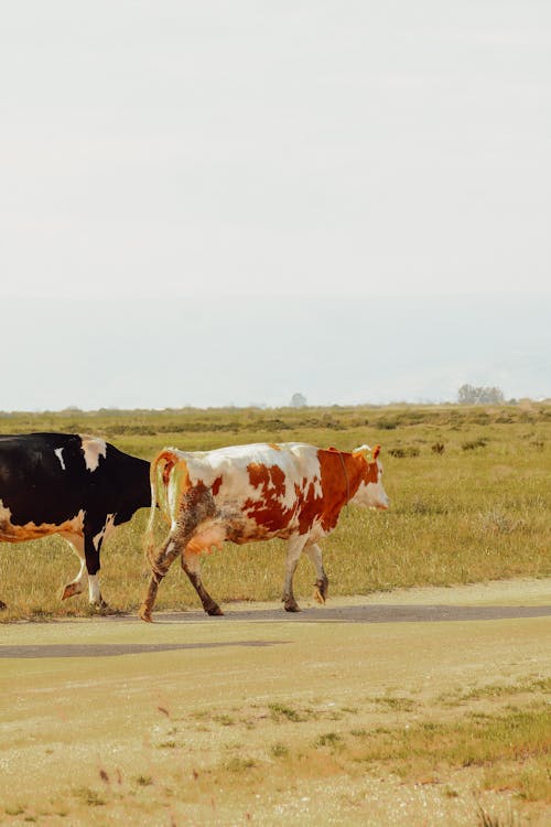
[[[483,791],[475,770],[406,784],[327,759],[283,783],[270,753],[327,730],[443,720],[456,713],[446,694],[549,676],[551,580],[302,605],[0,626],[0,824],[473,825],[480,805],[551,821]],[[273,721],[273,705],[314,711]],[[242,756],[272,761],[273,778],[228,781],[224,766]],[[108,795],[95,806],[83,790]]]

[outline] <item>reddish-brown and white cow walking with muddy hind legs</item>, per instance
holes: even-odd
[[[280,537],[288,540],[284,608],[299,612],[293,574],[302,551],[316,571],[315,597],[324,603],[327,576],[318,540],[332,531],[349,502],[388,508],[382,468],[363,445],[352,453],[301,442],[251,444],[216,451],[164,449],[151,463],[151,515],[147,554],[152,576],[140,617],[151,621],[159,583],[175,558],[208,614],[222,614],[201,580],[201,552],[225,540],[236,544]],[[155,551],[153,522],[159,505],[171,528]]]

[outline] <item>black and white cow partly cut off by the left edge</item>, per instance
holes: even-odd
[[[80,558],[80,571],[62,600],[83,591],[87,571],[89,601],[105,606],[98,580],[101,544],[114,526],[151,504],[149,468],[96,437],[0,436],[0,540],[60,534]],[[0,608],[6,608],[1,601]]]

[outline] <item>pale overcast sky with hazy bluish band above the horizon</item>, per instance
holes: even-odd
[[[551,4],[0,4],[0,409],[551,396]]]

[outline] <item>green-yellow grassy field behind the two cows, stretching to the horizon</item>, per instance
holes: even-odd
[[[71,410],[0,418],[3,433],[94,433],[148,460],[165,445],[204,450],[300,440],[350,450],[380,443],[391,508],[382,515],[355,506],[344,511],[323,543],[329,599],[551,573],[551,405]],[[114,610],[133,612],[140,602],[145,519],[147,511],[140,512],[104,547],[102,593]],[[280,541],[227,544],[205,559],[204,581],[222,604],[278,601],[283,565]],[[8,604],[2,620],[86,614],[86,595],[60,601],[77,570],[77,558],[60,538],[2,544],[0,598]],[[311,594],[313,580],[303,560],[295,578],[299,602]],[[187,578],[174,566],[156,610],[197,605]]]

